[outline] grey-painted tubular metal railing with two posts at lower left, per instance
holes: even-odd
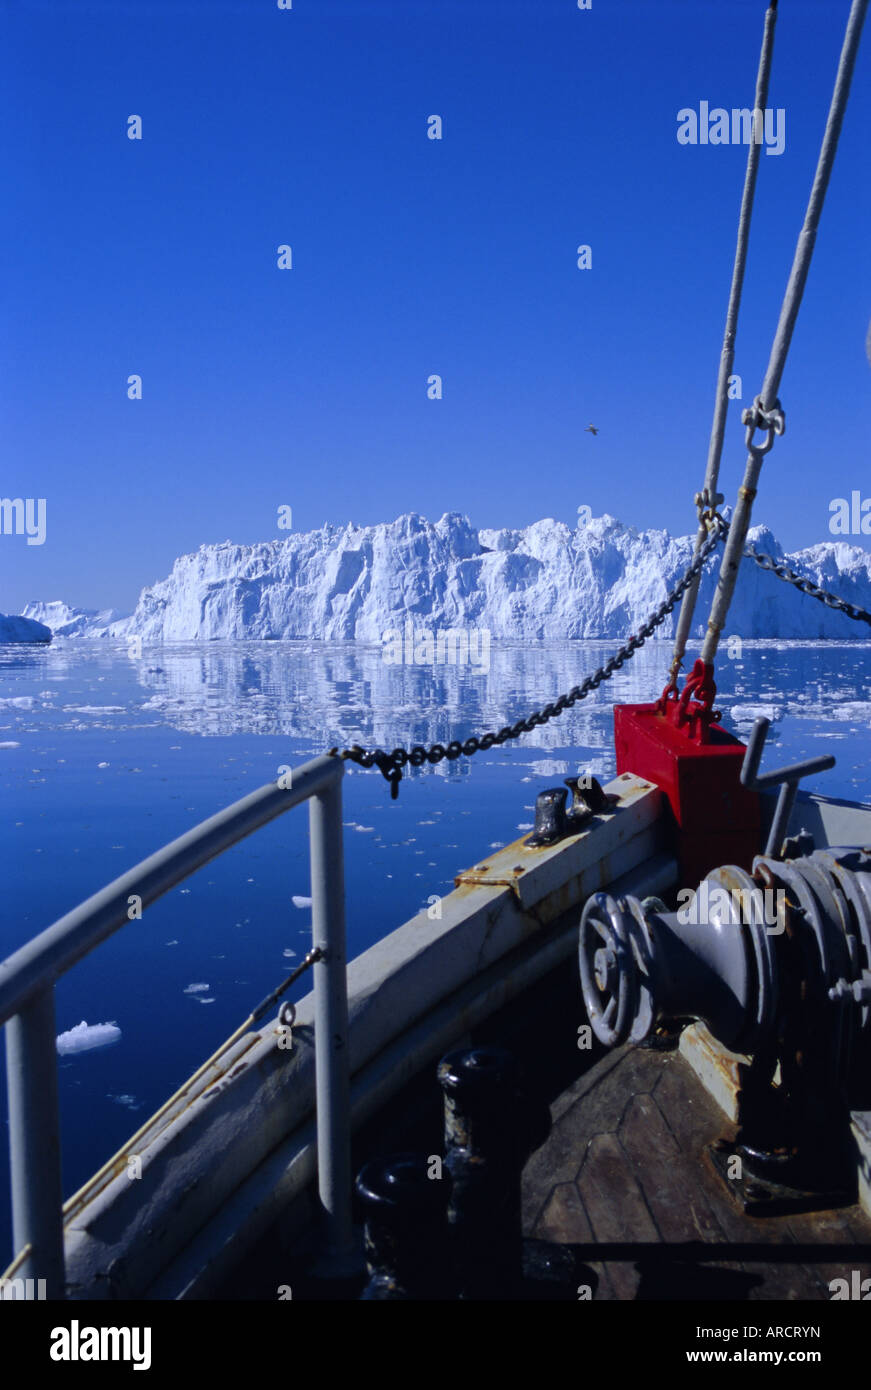
[[[244,835],[310,801],[311,935],[314,965],[318,1190],[328,1252],[351,1250],[347,980],[342,777],[324,755],[233,802],[172,840],[93,894],[0,963],[0,1023],[6,1023],[13,1243],[29,1247],[28,1268],[47,1298],[65,1297],[61,1141],[57,1098],[54,983],[101,941]]]

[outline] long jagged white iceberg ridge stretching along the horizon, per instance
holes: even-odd
[[[842,541],[793,555],[764,527],[750,542],[824,588],[871,607],[871,555]],[[143,642],[308,638],[381,644],[388,631],[486,628],[495,641],[625,638],[686,569],[692,537],[635,531],[611,516],[570,528],[475,530],[458,513],[324,525],[263,545],[203,545],[142,591],[129,619],[35,605],[58,635]],[[720,555],[721,552],[718,552]],[[704,631],[718,564],[706,569],[693,637]],[[658,630],[671,637],[677,613]],[[864,627],[746,560],[728,632],[742,638],[868,638]]]

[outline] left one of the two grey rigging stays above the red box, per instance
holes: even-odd
[[[774,26],[777,21],[777,0],[771,0],[768,10],[765,11],[765,28],[763,32],[763,46],[758,56],[758,71],[756,74],[756,103],[754,113],[760,113],[760,120],[763,118],[763,111],[768,106],[768,79],[771,76],[771,56],[774,53]],[[696,493],[696,506],[699,509],[699,532],[696,535],[696,549],[697,555],[704,543],[704,538],[708,531],[708,520],[711,510],[722,502],[722,498],[717,492],[717,480],[720,477],[720,460],[722,456],[722,441],[725,435],[727,411],[729,406],[728,389],[729,377],[732,375],[732,367],[735,364],[735,334],[738,329],[738,311],[740,309],[740,295],[745,284],[745,268],[747,264],[747,246],[750,242],[750,220],[753,217],[753,197],[756,193],[756,175],[758,172],[758,160],[761,154],[761,142],[756,139],[756,115],[753,117],[753,131],[750,135],[750,146],[747,149],[747,168],[745,171],[745,189],[740,200],[740,213],[738,217],[738,242],[735,245],[735,261],[732,265],[732,285],[729,289],[729,304],[727,309],[727,321],[722,335],[722,350],[720,353],[720,375],[717,378],[717,392],[714,396],[714,420],[711,424],[711,438],[707,450],[707,468],[704,473],[704,486],[700,493]],[[671,662],[670,671],[670,687],[677,689],[678,671],[683,664],[683,656],[686,653],[686,641],[689,638],[689,631],[693,621],[693,613],[696,609],[696,599],[699,596],[700,575],[697,575],[686,594],[683,595],[683,602],[681,605],[681,613],[678,617],[678,626],[675,630],[674,639],[674,656]]]

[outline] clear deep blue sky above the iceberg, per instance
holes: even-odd
[[[681,146],[677,113],[752,106],[764,10],[0,3],[0,493],[46,498],[43,545],[0,535],[0,610],[132,607],[203,542],[283,537],[279,506],[692,530],[746,147]],[[728,500],[847,11],[779,6]],[[870,44],[756,512],[788,548],[871,495]]]

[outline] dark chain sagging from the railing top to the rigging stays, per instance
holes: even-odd
[[[422,767],[424,763],[440,763],[443,758],[447,758],[449,762],[453,762],[457,758],[471,758],[472,753],[476,753],[479,749],[486,752],[486,749],[493,748],[493,745],[507,744],[508,739],[520,738],[521,734],[531,734],[533,728],[546,724],[549,719],[556,719],[564,709],[568,709],[578,701],[585,699],[590,691],[595,691],[603,681],[610,680],[614,671],[620,670],[624,662],[635,656],[639,646],[643,646],[660,623],[665,621],[678,599],[689,588],[696,575],[702,573],[706,560],[715,549],[721,535],[725,535],[727,530],[728,525],[722,517],[714,516],[711,532],[707,541],[703,543],[699,555],[686,570],[683,578],[675,584],[674,589],[668,598],[660,603],[656,613],[652,613],[643,627],[640,627],[638,632],[632,634],[629,641],[620,648],[615,656],[611,656],[604,666],[600,666],[597,671],[588,676],[581,685],[575,685],[567,695],[560,695],[560,698],[551,705],[545,705],[542,710],[538,710],[535,714],[528,714],[526,719],[518,719],[515,724],[506,724],[506,727],[500,728],[497,734],[472,735],[464,742],[454,741],[447,744],[447,746],[443,744],[432,744],[431,748],[424,748],[422,744],[415,744],[410,751],[404,748],[395,748],[392,753],[386,753],[381,748],[367,751],[365,748],[360,748],[358,744],[354,744],[351,748],[343,749],[342,758],[357,763],[360,767],[379,767],[386,780],[390,783],[390,796],[396,799],[396,796],[399,796],[399,784],[401,781],[403,767],[406,763],[410,763],[411,767]],[[332,748],[331,752],[338,753],[339,749]]]

